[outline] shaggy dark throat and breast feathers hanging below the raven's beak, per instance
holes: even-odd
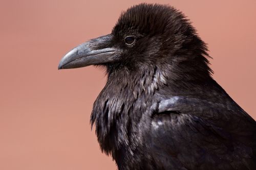
[[[145,104],[153,102],[148,96],[166,85],[166,79],[165,72],[156,66],[146,70],[115,71],[109,75],[91,114],[91,124],[95,124],[102,151],[114,154],[123,145],[131,144],[129,133],[147,109]]]

